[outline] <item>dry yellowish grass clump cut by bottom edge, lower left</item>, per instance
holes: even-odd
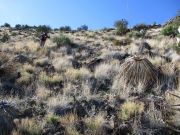
[[[35,119],[22,119],[16,122],[17,130],[15,130],[13,135],[42,135],[43,130],[39,122]]]

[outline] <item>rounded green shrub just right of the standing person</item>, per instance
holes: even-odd
[[[60,35],[59,37],[55,37],[53,42],[56,43],[57,47],[61,47],[63,45],[72,45],[72,41],[69,37],[65,35]]]

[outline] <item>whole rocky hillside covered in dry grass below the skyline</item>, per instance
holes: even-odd
[[[34,29],[1,28],[0,134],[180,134],[180,55],[162,29],[55,30],[41,48]]]

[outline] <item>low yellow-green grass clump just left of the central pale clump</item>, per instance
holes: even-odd
[[[62,80],[63,77],[58,74],[47,75],[46,72],[41,72],[39,75],[39,81],[42,84],[53,85],[62,82]]]

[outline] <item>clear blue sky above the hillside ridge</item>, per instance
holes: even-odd
[[[113,27],[126,19],[139,23],[163,24],[177,15],[180,0],[0,0],[0,25],[15,24],[77,27]]]

